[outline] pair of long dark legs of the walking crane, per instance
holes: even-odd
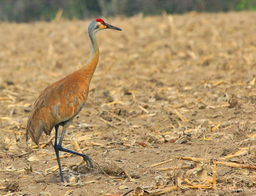
[[[57,145],[57,139],[56,138],[58,137],[58,127],[59,127],[59,125],[55,126],[55,144],[54,144],[54,149],[55,149],[55,152],[56,152],[56,157],[57,157],[57,162],[58,162],[58,167],[59,167],[59,174],[61,176],[61,181],[64,182],[63,175],[62,175],[62,170],[61,170],[61,161],[59,160],[59,153],[58,153],[58,151],[69,152],[71,154],[81,156],[82,158],[84,158],[84,161],[86,162],[87,167],[89,167],[88,162],[90,163],[90,167],[91,168],[93,168],[93,164],[92,164],[91,159],[88,157],[88,155],[81,154],[79,152],[75,152],[75,151],[72,151],[72,150],[68,150],[68,149],[62,148],[62,146],[61,146],[62,145],[62,140],[63,140],[64,134],[66,132],[66,129],[62,130],[61,137],[59,138],[59,142],[58,142],[58,145]]]

